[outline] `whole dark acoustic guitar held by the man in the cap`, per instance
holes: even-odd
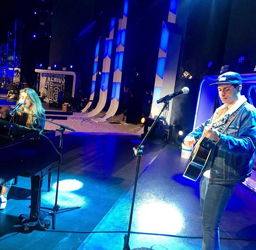
[[[223,127],[225,127],[228,119],[229,114],[213,123],[211,127],[221,130]],[[201,136],[191,152],[183,176],[193,181],[197,181],[209,159],[211,151],[214,150],[214,148],[215,144],[212,142],[212,140]]]

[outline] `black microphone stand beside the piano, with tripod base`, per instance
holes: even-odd
[[[65,129],[68,129],[68,130],[71,130],[73,132],[75,132],[75,129],[73,128],[70,128],[68,126],[65,126],[65,125],[62,125],[62,124],[59,124],[59,123],[56,123],[56,122],[52,122],[52,121],[49,121],[47,119],[44,119],[40,116],[37,116],[37,115],[34,115],[34,114],[30,114],[30,113],[27,113],[25,112],[24,110],[18,110],[19,112],[22,112],[22,113],[25,113],[25,114],[29,114],[29,115],[32,115],[34,116],[35,118],[39,118],[39,119],[42,119],[46,122],[49,122],[49,123],[52,123],[52,124],[55,124],[55,125],[58,125],[59,128],[56,129],[56,131],[59,131],[60,132],[60,142],[59,142],[59,148],[58,148],[58,151],[61,155],[62,153],[62,146],[63,146],[63,134],[64,134],[64,131]],[[55,224],[56,224],[56,214],[59,210],[63,210],[63,209],[68,209],[69,210],[73,210],[73,209],[78,209],[78,208],[81,208],[80,206],[73,206],[73,207],[64,207],[64,208],[60,208],[60,206],[57,204],[57,200],[58,200],[58,190],[59,190],[59,175],[60,175],[60,165],[58,166],[58,172],[57,172],[57,185],[56,185],[56,195],[55,195],[55,204],[53,206],[53,208],[48,208],[48,207],[41,207],[43,209],[49,209],[49,210],[52,210],[53,213],[49,213],[50,215],[52,215],[53,217],[53,221],[52,221],[52,227],[53,229],[55,229]],[[65,211],[66,212],[66,211]]]

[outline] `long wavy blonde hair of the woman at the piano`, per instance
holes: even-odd
[[[41,100],[39,99],[39,97],[37,95],[37,92],[35,92],[33,89],[25,88],[25,89],[20,90],[19,99],[17,101],[17,104],[21,101],[21,94],[23,92],[27,93],[28,98],[31,101],[31,106],[30,106],[30,109],[29,109],[28,113],[35,114],[35,115],[44,114],[45,110],[42,106]],[[24,110],[23,105],[20,106],[19,109]],[[23,115],[22,112],[17,111],[17,113],[19,115]],[[28,115],[28,120],[26,122],[26,127],[33,127],[36,119],[37,118],[33,117],[32,115]]]

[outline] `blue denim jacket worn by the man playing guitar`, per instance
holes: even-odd
[[[198,139],[211,119],[202,123],[189,135]],[[210,183],[237,184],[252,174],[256,149],[256,109],[245,102],[234,120],[216,143],[211,168]]]

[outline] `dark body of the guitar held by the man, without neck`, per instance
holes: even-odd
[[[197,181],[213,148],[214,144],[207,138],[198,142],[191,152],[183,176],[193,181]]]

